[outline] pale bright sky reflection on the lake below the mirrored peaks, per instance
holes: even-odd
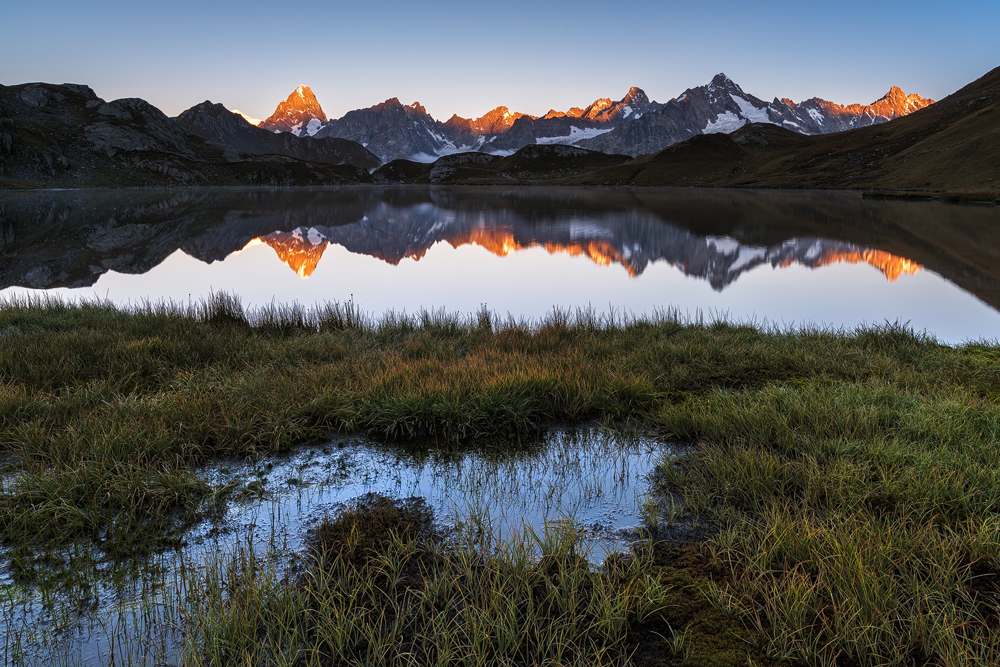
[[[864,263],[815,269],[763,264],[718,292],[664,261],[632,278],[617,264],[599,266],[584,256],[549,254],[538,247],[500,257],[475,245],[453,248],[447,243],[432,246],[419,261],[405,258],[397,266],[331,244],[309,278],[300,278],[263,244],[213,264],[177,251],[145,274],[110,272],[91,288],[49,292],[135,303],[198,300],[212,290],[237,293],[251,307],[353,298],[375,314],[420,308],[470,313],[484,303],[517,318],[540,318],[553,306],[592,306],[602,313],[614,308],[635,315],[676,308],[687,316],[724,315],[780,326],[908,322],[950,343],[993,339],[1000,333],[1000,313],[926,268],[889,281]],[[25,290],[2,293],[12,291]]]

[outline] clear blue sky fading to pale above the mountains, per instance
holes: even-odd
[[[3,0],[0,83],[86,83],[169,115],[264,118],[307,84],[327,115],[390,97],[439,120],[658,101],[725,72],[770,100],[939,99],[1000,65],[1000,1]]]

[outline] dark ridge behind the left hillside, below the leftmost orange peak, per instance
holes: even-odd
[[[202,139],[240,153],[257,155],[276,153],[300,160],[351,164],[371,171],[382,161],[350,139],[299,137],[291,132],[269,132],[254,127],[247,120],[221,104],[204,101],[174,119],[181,127]]]

